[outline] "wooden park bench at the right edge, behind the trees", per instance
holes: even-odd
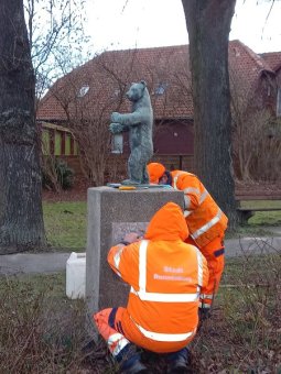
[[[241,207],[241,201],[281,200],[281,195],[258,195],[258,196],[240,195],[240,196],[236,196],[236,200],[238,201],[237,210],[241,212],[245,221],[251,218],[257,211],[281,211],[281,206],[280,207],[260,207],[260,208]]]

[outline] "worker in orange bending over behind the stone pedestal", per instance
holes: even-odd
[[[201,317],[209,317],[210,306],[218,289],[225,265],[224,237],[228,219],[219,209],[196,175],[169,172],[160,163],[150,163],[151,184],[171,185],[184,193],[184,217],[190,231],[188,243],[196,245],[208,263],[209,282],[201,295]]]

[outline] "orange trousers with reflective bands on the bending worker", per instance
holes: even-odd
[[[185,241],[198,248],[194,240],[188,237]],[[204,257],[207,260],[209,279],[208,285],[202,289],[201,302],[205,308],[212,306],[215,294],[218,290],[220,278],[225,267],[225,245],[224,237],[217,237],[207,245],[198,248]]]

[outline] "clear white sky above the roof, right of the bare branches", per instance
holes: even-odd
[[[271,6],[271,0],[237,0],[229,40],[256,53],[281,51],[281,1]],[[181,0],[87,0],[86,7],[86,33],[96,53],[188,44]]]

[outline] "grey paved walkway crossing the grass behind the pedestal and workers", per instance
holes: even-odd
[[[281,228],[274,228],[281,234]],[[281,251],[281,237],[241,238],[225,241],[226,257],[242,254],[273,253]],[[18,253],[0,255],[0,276],[12,274],[55,273],[66,268],[71,253]]]

